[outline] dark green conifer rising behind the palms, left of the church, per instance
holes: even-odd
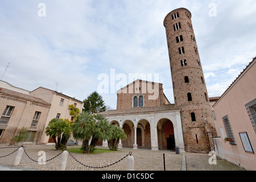
[[[96,91],[91,93],[84,101],[83,111],[88,111],[91,114],[101,113],[106,111],[106,106],[102,96]]]

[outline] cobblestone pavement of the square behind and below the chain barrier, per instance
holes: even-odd
[[[68,148],[80,147],[80,146],[68,146]],[[103,148],[97,146],[97,148]],[[0,147],[0,165],[13,166],[16,152],[4,158],[5,156],[15,151],[13,147]],[[61,151],[55,150],[54,146],[25,146],[25,150],[31,159],[38,161],[40,155],[39,151],[46,152],[46,159],[49,160],[54,156],[60,154]],[[163,171],[163,154],[165,156],[166,171],[181,171],[183,154],[175,154],[174,151],[159,150],[151,151],[145,148],[139,148],[133,150],[132,148],[120,148],[115,152],[108,152],[102,154],[77,154],[71,153],[73,157],[86,166],[103,167],[109,164],[117,162],[124,156],[132,152],[134,156],[134,170],[135,171]],[[217,160],[217,165],[210,165],[208,159],[210,158],[207,154],[195,154],[185,153],[187,171],[241,171],[242,168],[226,162],[226,160]],[[27,157],[23,152],[22,159],[20,160],[19,167],[27,169],[36,169],[43,171],[56,171],[59,168],[61,155],[56,158],[49,160],[46,164],[38,164]],[[68,155],[66,171],[126,171],[127,158],[114,164],[113,166],[106,168],[89,168],[78,163],[75,159]]]

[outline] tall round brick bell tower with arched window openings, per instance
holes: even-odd
[[[191,13],[176,9],[164,18],[175,106],[181,109],[185,150],[209,152],[216,129],[191,22]]]

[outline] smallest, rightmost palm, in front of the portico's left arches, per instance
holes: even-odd
[[[110,150],[117,150],[117,142],[119,141],[119,139],[126,139],[125,131],[123,131],[123,129],[121,129],[117,125],[112,125],[110,136],[110,140],[112,140],[112,146],[110,146],[110,141],[108,140]]]

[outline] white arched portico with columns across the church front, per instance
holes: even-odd
[[[174,149],[174,146],[178,146],[180,152],[184,152],[180,110],[113,115],[106,118],[110,123],[118,125],[125,131],[127,138],[119,141],[118,148],[143,147],[159,150]]]

